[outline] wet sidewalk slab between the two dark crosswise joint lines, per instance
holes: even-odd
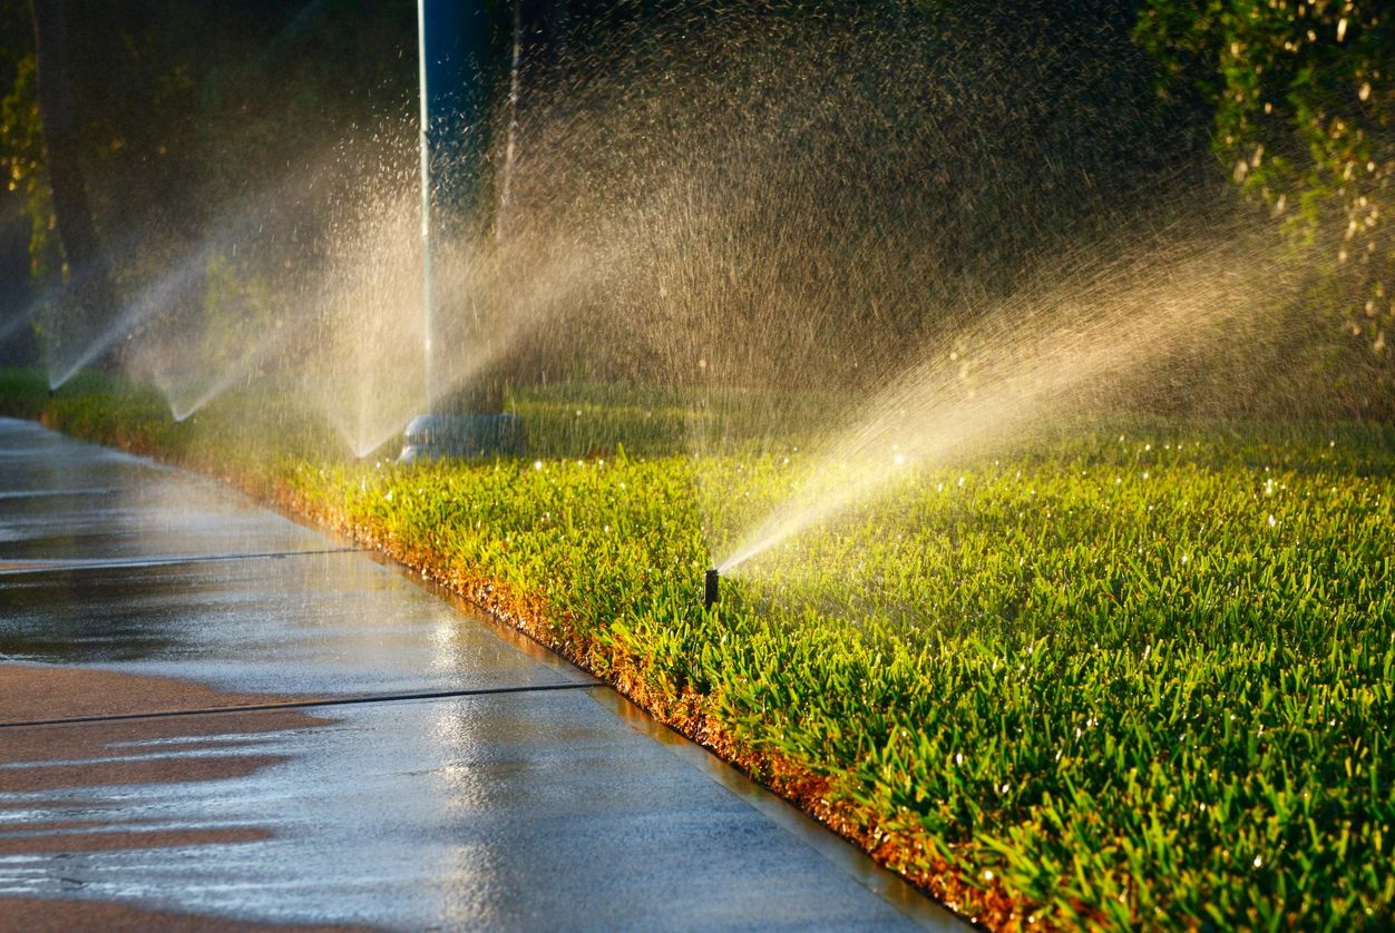
[[[230,690],[590,682],[462,625],[453,605],[361,554],[0,575],[0,619],[13,660],[120,664]]]

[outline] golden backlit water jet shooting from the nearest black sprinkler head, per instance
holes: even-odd
[[[1288,285],[1276,244],[1212,229],[1141,244],[1013,296],[877,393],[717,570],[730,573],[894,490],[917,467],[1020,441],[1092,402],[1137,393],[1170,354],[1262,328]]]

